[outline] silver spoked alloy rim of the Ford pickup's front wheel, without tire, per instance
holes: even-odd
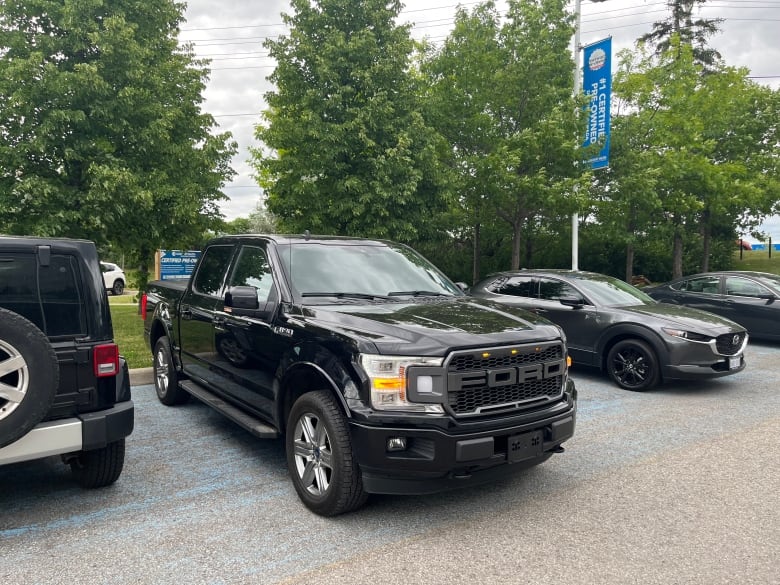
[[[333,476],[333,452],[325,423],[304,413],[295,424],[295,468],[303,488],[314,496],[323,496]]]

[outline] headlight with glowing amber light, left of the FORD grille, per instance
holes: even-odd
[[[442,358],[361,354],[360,365],[371,381],[371,406],[376,410],[444,414],[440,404],[409,402],[407,376],[410,366],[441,366],[442,363]],[[418,387],[425,386],[425,378],[417,377]]]

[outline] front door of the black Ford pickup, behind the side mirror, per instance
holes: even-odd
[[[261,308],[277,305],[277,286],[262,245],[241,247],[225,291],[237,286],[254,288]],[[221,389],[269,419],[273,417],[274,372],[284,351],[282,346],[287,345],[283,336],[274,333],[272,317],[273,310],[237,315],[224,310],[223,302],[214,327],[215,364],[222,378]]]

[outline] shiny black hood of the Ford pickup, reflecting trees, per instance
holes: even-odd
[[[443,356],[453,348],[557,340],[560,329],[522,309],[471,297],[309,305],[306,321],[372,343],[388,355]]]

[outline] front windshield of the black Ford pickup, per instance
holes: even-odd
[[[308,298],[461,296],[461,290],[405,246],[296,242],[280,246],[290,283]]]

